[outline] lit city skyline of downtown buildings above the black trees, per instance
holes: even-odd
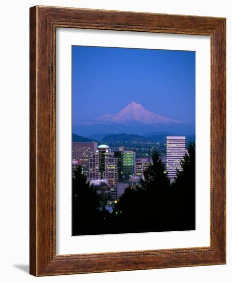
[[[181,172],[181,161],[188,154],[185,136],[166,136],[166,151],[164,158],[160,157],[164,165],[170,184],[175,182],[177,172]],[[113,203],[117,203],[125,189],[132,185],[136,188],[144,179],[152,166],[152,154],[138,157],[136,150],[126,150],[123,146],[112,149],[106,144],[98,142],[72,143],[72,177],[74,171],[81,166],[87,181],[103,198],[108,200],[107,208],[112,211]],[[120,191],[118,191],[120,187]],[[108,193],[108,196],[105,194]],[[110,202],[111,201],[111,202]]]

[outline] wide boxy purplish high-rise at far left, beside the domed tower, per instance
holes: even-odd
[[[97,142],[73,142],[72,143],[72,160],[79,160],[82,165],[83,173],[87,175],[89,158],[96,151]]]

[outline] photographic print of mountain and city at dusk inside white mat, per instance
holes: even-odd
[[[72,46],[72,235],[195,230],[195,51]]]

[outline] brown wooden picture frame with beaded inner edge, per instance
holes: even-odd
[[[210,36],[210,247],[56,255],[56,28]],[[30,274],[35,276],[226,263],[226,19],[35,6],[30,8]]]

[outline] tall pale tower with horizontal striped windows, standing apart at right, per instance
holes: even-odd
[[[177,169],[181,170],[181,160],[187,153],[185,136],[166,137],[166,169],[171,182],[177,175]]]

